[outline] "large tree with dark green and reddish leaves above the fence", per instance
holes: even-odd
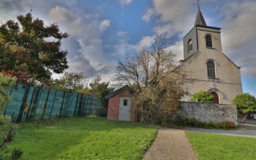
[[[44,83],[52,73],[68,68],[67,50],[61,50],[62,38],[68,38],[57,24],[45,26],[31,13],[17,16],[0,26],[0,71],[17,77],[23,84]],[[21,26],[21,27],[20,27]],[[47,40],[54,38],[55,40]]]

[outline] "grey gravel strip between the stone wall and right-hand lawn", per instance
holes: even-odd
[[[216,133],[225,134],[229,136],[242,136],[242,137],[253,137],[256,138],[255,130],[216,130],[216,129],[204,129],[204,128],[184,128],[184,130],[194,131],[194,132],[205,132],[205,133]]]

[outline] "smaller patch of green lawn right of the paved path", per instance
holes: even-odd
[[[256,138],[186,131],[200,160],[255,160]]]

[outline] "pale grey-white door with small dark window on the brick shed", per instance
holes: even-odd
[[[131,114],[131,98],[120,97],[118,119],[122,121],[130,121],[130,114]]]

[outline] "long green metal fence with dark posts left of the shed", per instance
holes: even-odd
[[[11,115],[16,122],[66,116],[106,116],[104,99],[90,94],[24,84],[17,84],[6,92],[12,96],[12,102],[4,115]]]

